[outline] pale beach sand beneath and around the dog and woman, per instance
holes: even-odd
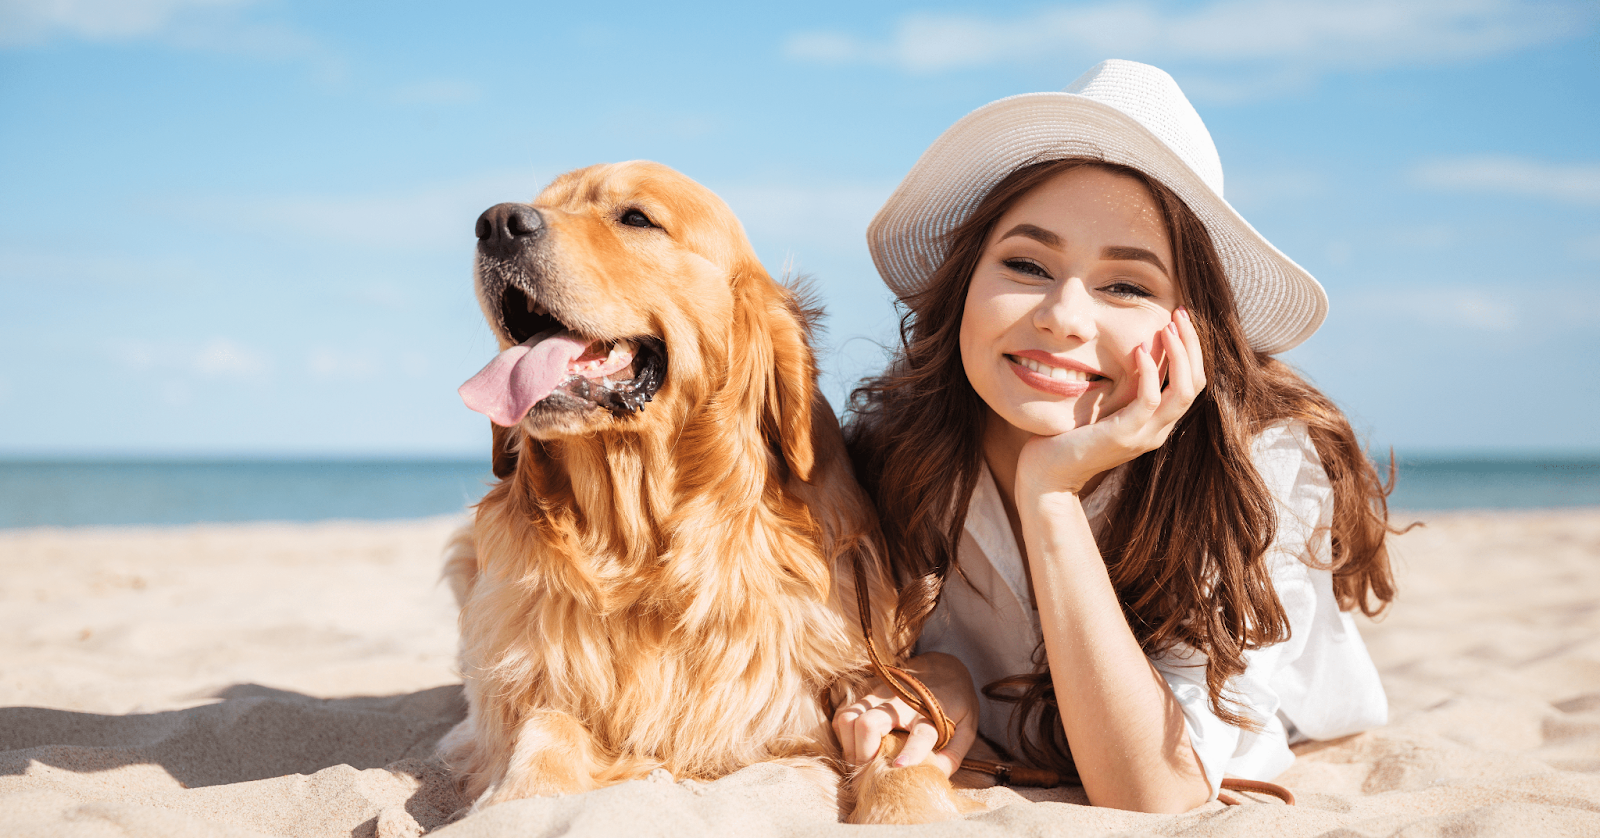
[[[1600,510],[1426,515],[1362,622],[1390,724],[1182,816],[987,788],[947,835],[1600,835]],[[462,806],[454,520],[0,531],[0,835],[845,835],[795,772]]]

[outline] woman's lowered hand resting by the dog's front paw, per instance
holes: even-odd
[[[912,710],[888,684],[875,681],[861,700],[834,713],[834,732],[845,750],[845,761],[853,766],[864,764],[878,755],[878,747],[890,731],[907,731],[910,736],[894,766],[917,764],[933,753],[933,764],[949,777],[962,766],[973,740],[978,739],[978,692],[973,689],[973,676],[960,660],[942,652],[912,657],[906,668],[944,705],[946,715],[955,724],[955,736],[944,750],[933,753],[933,745],[939,739],[933,723]]]

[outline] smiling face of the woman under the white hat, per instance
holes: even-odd
[[[1162,211],[1099,166],[1022,195],[984,243],[962,313],[973,389],[1013,429],[1054,435],[1133,401],[1134,350],[1179,305]]]

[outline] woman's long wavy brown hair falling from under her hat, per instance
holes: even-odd
[[[1269,568],[1274,501],[1250,457],[1267,425],[1293,419],[1310,430],[1333,485],[1333,585],[1339,608],[1374,616],[1394,598],[1384,537],[1387,493],[1344,414],[1288,365],[1253,352],[1222,262],[1200,219],[1142,173],[1096,160],[1053,160],[1000,181],[947,240],[926,288],[904,299],[901,345],[888,369],[851,393],[846,429],[856,475],[874,497],[899,585],[904,633],[917,636],[957,569],[965,510],[981,473],[984,401],[960,357],[962,312],[984,243],[1000,216],[1030,189],[1075,166],[1104,166],[1149,189],[1166,219],[1176,281],[1206,363],[1206,387],[1160,448],[1128,465],[1122,496],[1098,542],[1123,614],[1146,654],[1182,643],[1205,652],[1218,718],[1256,728],[1229,700],[1246,649],[1288,638]],[[986,686],[1019,704],[1022,756],[1072,774],[1043,649],[1040,672]]]

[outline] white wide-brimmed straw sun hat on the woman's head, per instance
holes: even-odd
[[[1222,200],[1222,162],[1194,106],[1165,72],[1102,61],[1061,93],[1024,93],[973,110],[923,152],[867,225],[867,246],[896,296],[922,289],[946,237],[1006,174],[1086,157],[1139,170],[1205,224],[1258,352],[1283,352],[1328,315],[1328,294]]]

